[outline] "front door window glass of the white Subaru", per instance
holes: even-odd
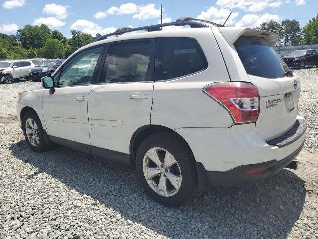
[[[80,61],[83,59],[98,59],[102,49],[102,47],[99,47],[90,50],[84,50],[72,58],[63,67],[61,74],[59,74],[60,79],[58,82],[58,87],[90,84],[96,64],[82,65],[80,64]]]

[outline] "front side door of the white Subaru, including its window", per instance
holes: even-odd
[[[99,59],[103,48],[84,50],[69,60],[54,76],[55,91],[43,95],[43,114],[47,133],[59,139],[89,145],[87,102],[92,76],[81,71],[79,62],[85,58]],[[94,71],[97,62],[94,65]],[[70,145],[72,146],[72,145]],[[86,150],[83,150],[86,151]]]

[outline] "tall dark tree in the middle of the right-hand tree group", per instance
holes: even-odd
[[[302,42],[302,30],[297,20],[282,21],[284,46],[295,46]]]

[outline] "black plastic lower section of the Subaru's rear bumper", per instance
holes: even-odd
[[[242,165],[237,168],[231,169],[226,172],[213,172],[206,171],[207,178],[210,182],[208,182],[210,186],[237,186],[237,185],[246,185],[253,184],[257,182],[264,181],[265,179],[270,178],[274,174],[281,171],[284,167],[286,167],[291,161],[295,159],[295,157],[302,150],[304,143],[292,154],[288,155],[286,158],[277,161],[271,160],[269,162],[257,163],[257,164],[249,164]],[[264,172],[255,173],[255,174],[247,174],[246,172],[256,169],[267,169]],[[200,172],[204,173],[204,172]]]

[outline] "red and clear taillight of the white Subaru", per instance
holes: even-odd
[[[203,91],[220,102],[231,113],[235,123],[252,123],[259,115],[259,94],[251,83],[214,83]]]

